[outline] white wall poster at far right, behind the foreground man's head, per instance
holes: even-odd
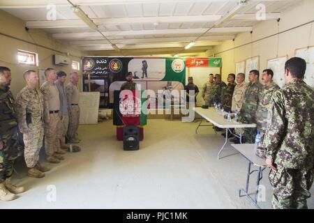
[[[304,82],[314,88],[314,46],[296,49],[295,56],[305,59],[306,73]]]

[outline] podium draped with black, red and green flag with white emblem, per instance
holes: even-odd
[[[126,91],[124,91],[126,92]],[[124,126],[136,125],[139,131],[140,141],[144,139],[144,125],[147,125],[147,114],[142,104],[146,100],[142,98],[142,91],[129,90],[127,94],[114,91],[113,125],[117,126],[117,140],[124,138]]]

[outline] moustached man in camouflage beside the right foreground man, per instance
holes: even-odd
[[[263,86],[260,91],[258,107],[257,107],[257,131],[260,132],[261,141],[263,141],[264,133],[269,121],[269,109],[271,108],[271,97],[280,87],[272,80],[274,72],[270,69],[263,70],[262,82]],[[264,157],[264,150],[261,147],[257,148],[257,155]]]

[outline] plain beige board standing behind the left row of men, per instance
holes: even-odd
[[[100,92],[80,92],[80,124],[97,124]]]

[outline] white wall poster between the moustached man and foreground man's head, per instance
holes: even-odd
[[[281,88],[285,85],[285,79],[283,77],[285,73],[285,61],[287,61],[287,56],[267,60],[267,68],[273,70],[273,80]]]

